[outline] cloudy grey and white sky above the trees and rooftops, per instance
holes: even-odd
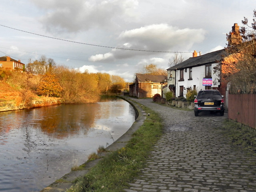
[[[169,68],[226,47],[234,23],[252,21],[255,0],[1,0],[0,56],[27,64],[106,72],[133,82],[146,64]]]

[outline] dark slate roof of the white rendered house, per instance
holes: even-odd
[[[220,61],[222,59],[223,55],[226,55],[225,49],[210,52],[197,57],[190,57],[187,60],[168,68],[167,70],[178,70],[178,69],[216,63],[216,61]]]

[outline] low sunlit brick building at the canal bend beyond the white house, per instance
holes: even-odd
[[[162,95],[163,86],[167,85],[167,76],[136,74],[135,82],[129,85],[129,95],[137,98],[151,98]]]

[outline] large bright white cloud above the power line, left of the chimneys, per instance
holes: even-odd
[[[134,48],[173,51],[174,47],[187,50],[192,44],[202,42],[205,33],[203,29],[179,29],[168,24],[152,24],[126,30],[118,38]]]

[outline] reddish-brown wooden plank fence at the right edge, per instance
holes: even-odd
[[[229,94],[228,118],[256,129],[256,94]]]

